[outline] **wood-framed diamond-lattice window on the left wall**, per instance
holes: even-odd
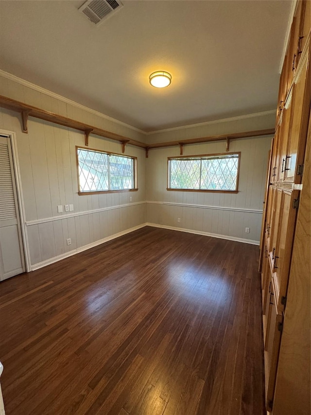
[[[79,195],[137,190],[136,157],[76,147]]]

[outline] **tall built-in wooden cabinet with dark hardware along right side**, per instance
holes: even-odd
[[[266,409],[271,415],[310,414],[310,26],[311,1],[298,0],[280,77],[260,242]],[[298,248],[303,239],[308,249]]]

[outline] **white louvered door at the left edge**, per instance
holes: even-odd
[[[11,140],[0,136],[0,281],[24,271]]]

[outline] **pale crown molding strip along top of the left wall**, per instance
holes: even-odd
[[[129,124],[123,123],[122,121],[109,117],[108,115],[105,115],[102,112],[96,111],[95,109],[92,109],[92,108],[88,108],[82,104],[72,101],[69,98],[66,98],[62,95],[58,95],[55,92],[46,90],[45,88],[39,87],[38,85],[35,85],[29,81],[26,81],[25,79],[19,78],[18,76],[13,75],[12,73],[5,72],[0,69],[0,76],[2,76],[3,78],[9,79],[10,81],[17,82],[17,84],[23,85],[24,87],[31,88],[32,90],[36,90],[37,92],[41,92],[45,95],[51,96],[52,98],[58,99],[59,101],[65,102],[66,104],[73,105],[74,107],[83,109],[84,111],[90,112],[91,114],[97,115],[98,117],[104,118],[105,120],[112,121],[113,123],[119,124],[120,126],[130,128],[131,130],[134,130],[141,134],[146,135],[146,132],[139,128],[130,126]]]

